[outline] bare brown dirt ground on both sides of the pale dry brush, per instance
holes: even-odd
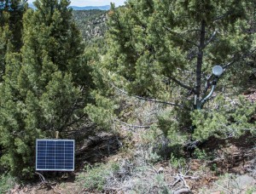
[[[93,164],[121,161],[125,157],[125,154],[119,150],[120,143],[121,138],[116,135],[105,134],[100,138],[91,137],[76,151],[77,168],[75,172],[46,174],[44,176],[45,182],[40,180],[38,176],[38,180],[33,183],[15,185],[9,193],[99,193],[99,191],[86,190],[83,183],[77,180],[77,177],[83,172],[84,163]],[[211,152],[211,155],[214,153],[214,157],[192,157],[188,159],[186,169],[183,169],[183,172],[180,172],[178,168],[173,168],[169,160],[161,161],[152,166],[152,174],[164,174],[165,181],[177,188],[186,184],[193,193],[238,194],[246,193],[250,188],[252,188],[252,192],[247,193],[256,193],[254,186],[256,185],[256,147],[253,138],[247,135],[237,140],[216,140],[212,138],[207,141],[207,144],[201,146],[201,149],[206,154],[207,152]],[[215,149],[212,150],[212,147]],[[224,177],[225,174],[229,175]],[[182,177],[179,181],[177,181],[179,179],[178,176],[180,176],[179,178]],[[229,184],[226,183],[227,181]],[[245,188],[235,188],[234,190],[231,184],[232,181],[239,181],[236,185],[239,185],[242,181],[249,181],[249,183]],[[102,193],[130,192],[102,191]]]

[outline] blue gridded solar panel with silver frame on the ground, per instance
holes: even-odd
[[[37,140],[36,169],[74,170],[74,140]]]

